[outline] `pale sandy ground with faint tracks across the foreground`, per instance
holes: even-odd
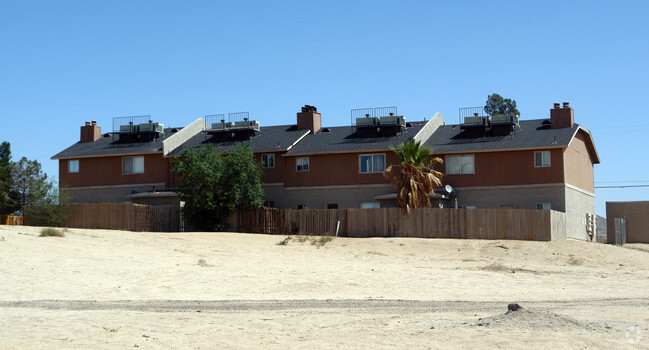
[[[647,245],[39,232],[0,226],[0,349],[649,349]]]

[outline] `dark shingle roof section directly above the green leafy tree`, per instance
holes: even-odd
[[[250,140],[212,142],[211,136],[205,132],[198,133],[180,147],[171,152],[170,156],[180,156],[187,148],[195,148],[201,144],[211,144],[223,151],[231,150],[237,143],[247,143],[254,152],[286,151],[309,130],[297,130],[295,125],[265,126]]]

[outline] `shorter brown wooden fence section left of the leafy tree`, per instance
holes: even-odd
[[[121,203],[70,204],[65,226],[110,230],[178,232],[180,207]]]

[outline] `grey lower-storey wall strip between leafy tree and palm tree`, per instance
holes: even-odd
[[[394,193],[391,185],[313,186],[284,188],[284,184],[264,185],[264,200],[275,202],[277,208],[297,209],[299,204],[309,209],[327,209],[338,204],[339,209],[360,208],[363,202],[376,202],[374,196]]]

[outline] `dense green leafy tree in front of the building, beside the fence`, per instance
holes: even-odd
[[[171,160],[182,182],[178,191],[183,214],[201,230],[223,230],[223,221],[236,210],[262,204],[261,168],[247,144],[222,153],[211,145],[187,150]]]

